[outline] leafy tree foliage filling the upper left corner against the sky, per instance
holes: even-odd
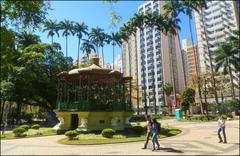
[[[46,19],[47,1],[1,1],[1,24],[17,28],[39,28]]]

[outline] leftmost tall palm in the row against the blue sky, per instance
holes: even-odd
[[[52,44],[53,44],[53,36],[55,34],[57,34],[57,36],[59,37],[59,24],[57,23],[57,20],[52,21],[52,20],[47,20],[44,23],[44,29],[43,32],[48,31],[48,35],[47,37],[51,36],[52,38]]]

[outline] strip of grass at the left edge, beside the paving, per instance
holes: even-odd
[[[38,133],[41,133],[41,135],[39,135]],[[30,137],[56,135],[56,131],[52,128],[40,128],[39,130],[29,129],[24,134],[26,134],[25,137],[15,137],[14,133],[5,133],[0,136],[1,136],[1,139],[30,138]]]

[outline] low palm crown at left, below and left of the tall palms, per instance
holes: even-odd
[[[40,43],[40,37],[37,35],[32,34],[31,32],[22,32],[21,34],[17,34],[17,42],[18,47],[24,50],[27,46],[31,44]]]

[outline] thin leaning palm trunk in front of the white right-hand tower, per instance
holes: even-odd
[[[205,24],[205,20],[203,19],[203,9],[201,9],[201,14],[202,14],[202,22],[203,22],[203,32],[204,32],[204,36],[206,38],[206,42],[207,42],[207,51],[208,51],[208,57],[209,57],[209,62],[210,62],[210,69],[211,69],[211,78],[213,81],[213,88],[214,88],[214,97],[216,100],[216,103],[219,104],[218,102],[218,95],[217,95],[217,90],[216,90],[216,80],[215,80],[215,76],[214,76],[214,71],[213,71],[213,63],[212,63],[212,55],[211,55],[211,51],[209,49],[209,43],[208,43],[208,36],[207,36],[207,30],[206,30],[206,24]]]

